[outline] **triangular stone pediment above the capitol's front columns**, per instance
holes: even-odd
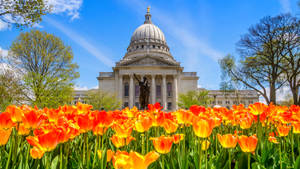
[[[151,56],[146,56],[142,58],[123,60],[121,62],[122,66],[177,66],[171,61],[164,60],[164,58],[154,58]]]

